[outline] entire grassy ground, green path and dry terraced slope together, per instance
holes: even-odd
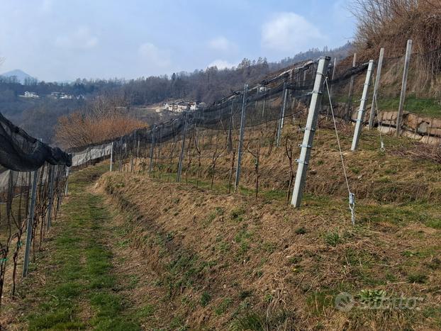
[[[404,138],[386,138],[381,152],[378,133],[365,132],[361,151],[345,152],[357,196],[352,226],[335,135],[327,127],[323,122],[316,135],[300,209],[285,203],[284,147],[274,147],[260,164],[257,199],[249,153],[240,194],[228,193],[223,162],[210,189],[208,159],[198,188],[196,164],[188,174],[186,165],[180,184],[160,162],[150,178],[142,167],[130,172],[130,159],[123,172],[103,174],[107,162],[75,172],[62,221],[48,243],[54,253],[38,258],[48,267],[37,268],[40,276],[28,284],[30,293],[23,291],[24,301],[9,305],[23,314],[9,314],[11,325],[29,320],[33,327],[127,325],[125,330],[440,328],[439,162],[415,157],[424,145]],[[352,129],[339,131],[347,150]],[[293,132],[288,124],[286,135]],[[262,147],[262,155],[268,152]],[[63,242],[78,244],[61,249]],[[94,249],[105,249],[100,256],[106,261],[94,262]],[[99,266],[106,266],[101,285],[93,277]],[[84,274],[83,281],[69,281],[77,274]],[[339,301],[340,293],[350,293],[355,305]],[[380,301],[391,306],[366,308]]]

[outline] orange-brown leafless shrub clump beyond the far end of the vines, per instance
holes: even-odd
[[[126,135],[147,123],[133,118],[118,102],[104,96],[94,99],[86,111],[62,116],[55,128],[55,140],[62,147],[79,147]]]

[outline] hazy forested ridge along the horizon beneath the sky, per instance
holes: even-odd
[[[331,55],[342,59],[350,52],[352,45],[347,43],[335,50],[327,47],[323,50],[311,49],[301,52],[294,57],[287,57],[279,62],[267,62],[266,59],[243,59],[236,67],[218,69],[208,67],[196,69],[194,72],[177,72],[171,77],[140,77],[138,79],[77,79],[63,84],[59,82],[26,82],[21,77],[21,71],[5,73],[0,76],[0,112],[12,120],[16,125],[23,126],[32,135],[43,138],[46,142],[54,142],[53,127],[57,119],[72,111],[85,111],[87,102],[93,103],[96,98],[118,99],[118,105],[132,108],[133,116],[147,119],[147,123],[160,123],[163,118],[158,116],[144,116],[145,112],[137,110],[149,107],[155,103],[169,99],[198,100],[207,104],[229,96],[233,91],[242,89],[245,83],[255,84],[267,77],[271,72],[292,65],[296,62],[317,58],[321,55]],[[20,76],[18,81],[11,78],[13,74]],[[6,76],[6,74],[8,76]],[[24,85],[23,85],[24,84]],[[32,91],[41,98],[23,100],[20,95],[25,91]],[[84,96],[86,101],[80,100],[52,100],[52,92],[70,94],[75,97]],[[155,115],[155,114],[154,114]],[[166,116],[167,117],[167,116]],[[50,125],[30,125],[35,120]]]

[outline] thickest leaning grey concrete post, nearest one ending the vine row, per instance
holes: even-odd
[[[306,171],[308,170],[309,157],[311,157],[311,148],[313,147],[314,133],[316,132],[318,111],[321,107],[322,88],[330,57],[320,57],[316,74],[316,82],[311,96],[311,104],[309,106],[308,118],[306,119],[305,135],[303,135],[303,143],[300,145],[301,152],[298,162],[296,182],[294,183],[294,191],[291,204],[297,208],[301,205],[303,196],[303,188],[306,181]]]

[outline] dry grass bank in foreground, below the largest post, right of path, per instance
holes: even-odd
[[[439,312],[425,318],[441,303],[440,231],[417,220],[352,228],[339,200],[310,198],[294,210],[139,175],[108,174],[100,186],[127,217],[132,247],[147,257],[140,267],[155,271],[153,284],[163,296],[155,305],[174,307],[157,316],[162,326],[179,317],[188,327],[225,328],[253,316],[270,330],[440,326]],[[409,283],[418,274],[425,275],[423,284]],[[333,307],[337,293],[366,288],[423,296],[423,311]],[[210,298],[206,305],[203,296]]]

